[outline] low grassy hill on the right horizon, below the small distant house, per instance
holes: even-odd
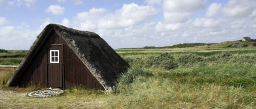
[[[157,49],[157,48],[256,48],[256,39],[243,42],[242,40],[221,43],[183,43],[172,46],[145,46],[144,49]]]

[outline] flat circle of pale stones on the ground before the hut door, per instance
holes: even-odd
[[[31,97],[47,98],[47,97],[51,97],[51,96],[62,95],[63,93],[64,93],[64,90],[51,89],[51,87],[50,87],[46,90],[36,90],[34,92],[30,92],[27,95],[31,96]]]

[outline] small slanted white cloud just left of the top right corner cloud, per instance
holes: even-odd
[[[206,11],[205,16],[206,17],[213,17],[215,14],[218,13],[218,10],[222,8],[222,4],[213,3],[208,7],[208,10]]]

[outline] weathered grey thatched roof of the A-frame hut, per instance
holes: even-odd
[[[49,24],[39,34],[38,39],[34,41],[33,45],[27,52],[19,67],[15,70],[6,86],[14,86],[13,81],[16,79],[19,72],[21,72],[24,64],[27,63],[28,58],[38,47],[39,42],[45,37],[50,28],[53,27],[59,31],[61,37],[67,42],[68,46],[73,49],[74,53],[80,60],[88,67],[90,72],[95,76],[105,90],[110,90],[114,85],[114,81],[118,76],[125,72],[129,67],[105,40],[98,34],[89,31],[79,31],[73,28],[67,28],[62,25]]]

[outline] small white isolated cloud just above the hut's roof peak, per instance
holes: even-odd
[[[50,5],[50,7],[48,7],[46,10],[45,10],[45,13],[52,13],[54,15],[62,15],[64,14],[64,10],[65,8],[64,7],[61,7],[60,5]]]

